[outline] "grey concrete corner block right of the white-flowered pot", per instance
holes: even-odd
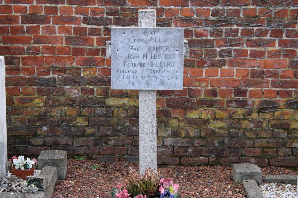
[[[48,150],[41,151],[38,157],[38,169],[46,166],[53,166],[57,168],[57,178],[65,179],[67,173],[67,158],[66,151]]]

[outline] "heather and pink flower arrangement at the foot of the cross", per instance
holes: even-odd
[[[111,190],[112,198],[179,198],[179,184],[172,178],[163,179],[160,172],[147,167],[140,174],[129,167],[129,174],[120,177],[120,183]]]

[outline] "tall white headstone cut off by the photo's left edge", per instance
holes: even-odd
[[[0,178],[7,173],[7,137],[6,137],[6,102],[5,102],[5,65],[0,56]]]

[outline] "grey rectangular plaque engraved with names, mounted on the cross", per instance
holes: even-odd
[[[111,28],[111,88],[183,89],[184,28]]]

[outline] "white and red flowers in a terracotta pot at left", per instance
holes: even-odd
[[[26,176],[33,175],[37,166],[36,159],[27,158],[25,160],[24,156],[13,156],[9,161],[13,163],[10,169],[11,174],[23,180],[26,180]]]

